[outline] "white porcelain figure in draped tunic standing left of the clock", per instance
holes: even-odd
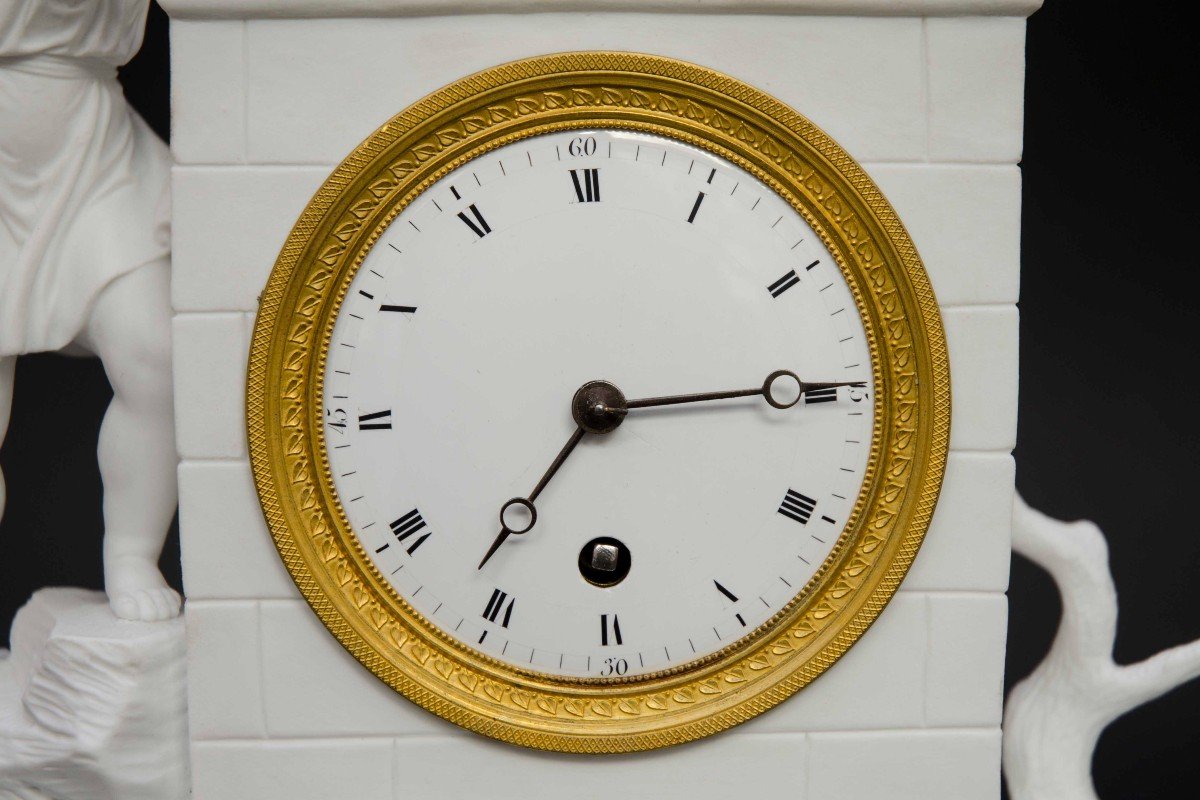
[[[104,588],[124,619],[179,614],[158,557],[175,511],[167,148],[116,67],[148,0],[0,2],[0,443],[17,356],[100,356]],[[5,488],[0,477],[0,515]]]

